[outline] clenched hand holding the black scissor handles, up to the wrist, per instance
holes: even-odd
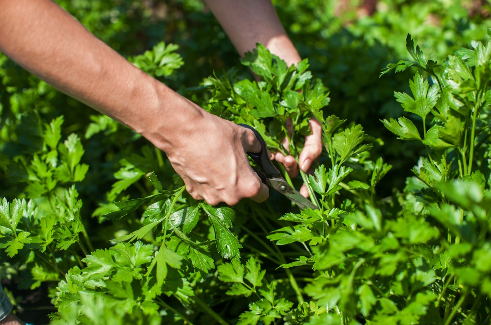
[[[252,170],[246,156],[246,152],[261,151],[254,133],[204,111],[187,99],[181,98],[180,104],[200,113],[185,121],[163,150],[191,196],[210,205],[220,202],[235,205],[243,198],[266,200],[269,189]]]

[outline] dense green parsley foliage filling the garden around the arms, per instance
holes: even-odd
[[[470,16],[461,1],[381,0],[360,17],[337,2],[278,0],[306,58],[287,67],[260,44],[239,62],[199,1],[57,2],[140,69],[255,127],[272,151],[298,159],[308,120],[321,121],[315,173],[285,174],[308,183],[319,210],[273,192],[263,204],[196,201],[163,152],[0,54],[0,274],[21,318],[490,323],[486,7]]]

